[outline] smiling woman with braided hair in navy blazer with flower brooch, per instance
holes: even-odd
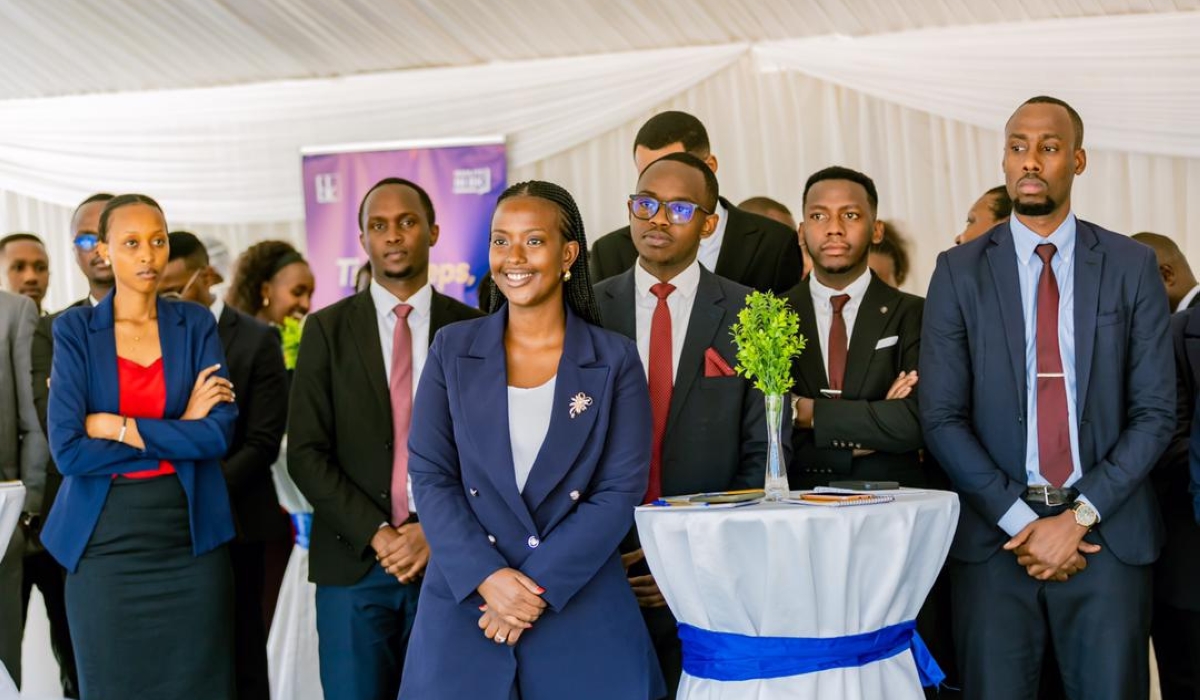
[[[402,700],[666,692],[617,554],[649,478],[646,375],[599,325],[584,240],[565,190],[514,185],[490,246],[508,304],[433,341],[408,442],[432,554]]]

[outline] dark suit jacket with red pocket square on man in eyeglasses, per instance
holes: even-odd
[[[767,461],[762,394],[742,377],[704,376],[708,348],[714,348],[730,367],[737,365],[730,327],[750,292],[700,270],[662,437],[664,496],[762,489]],[[596,285],[605,328],[637,339],[636,294],[634,270]],[[790,415],[785,415],[784,424],[785,431],[790,430]],[[785,433],[784,444],[788,442]]]

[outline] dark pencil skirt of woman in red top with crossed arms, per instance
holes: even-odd
[[[175,475],[113,481],[66,603],[83,700],[234,698],[229,552],[192,556]]]

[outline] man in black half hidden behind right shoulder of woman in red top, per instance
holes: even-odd
[[[229,451],[221,461],[238,538],[229,544],[234,580],[236,630],[235,675],[239,700],[269,700],[266,628],[263,624],[265,543],[288,537],[271,465],[288,420],[288,378],[280,334],[212,294],[222,282],[209,253],[194,234],[168,235],[170,257],[158,282],[161,297],[205,306],[217,319],[229,378],[238,388],[238,423]]]

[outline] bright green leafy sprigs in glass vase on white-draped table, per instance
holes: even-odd
[[[730,333],[738,346],[738,375],[767,396],[791,390],[792,360],[804,349],[804,336],[799,315],[786,301],[770,292],[752,292]]]

